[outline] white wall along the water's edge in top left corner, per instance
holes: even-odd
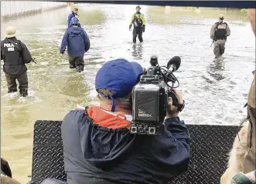
[[[1,1],[1,16],[22,15],[26,12],[43,11],[67,5],[67,2],[19,2]]]

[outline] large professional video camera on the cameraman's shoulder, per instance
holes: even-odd
[[[172,72],[179,69],[180,62],[180,58],[175,56],[169,60],[167,67],[160,67],[157,56],[151,57],[151,66],[132,90],[132,134],[162,134],[168,98],[172,97],[172,105],[178,103],[176,93],[172,89],[179,87],[179,81]],[[169,85],[170,82],[172,85]],[[174,86],[176,82],[178,85]]]

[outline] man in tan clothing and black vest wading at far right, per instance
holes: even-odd
[[[213,53],[216,59],[224,54],[227,36],[230,35],[230,28],[223,20],[224,15],[220,14],[219,22],[216,22],[210,29],[210,38],[213,39]]]

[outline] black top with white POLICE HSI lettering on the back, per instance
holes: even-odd
[[[32,56],[24,43],[12,37],[1,41],[1,60],[4,60],[3,69],[7,75],[22,75]]]

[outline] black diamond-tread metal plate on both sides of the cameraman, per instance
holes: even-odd
[[[32,181],[46,178],[66,181],[63,161],[61,121],[36,121],[32,156]],[[188,125],[191,161],[189,169],[169,184],[219,184],[227,167],[237,126]]]

